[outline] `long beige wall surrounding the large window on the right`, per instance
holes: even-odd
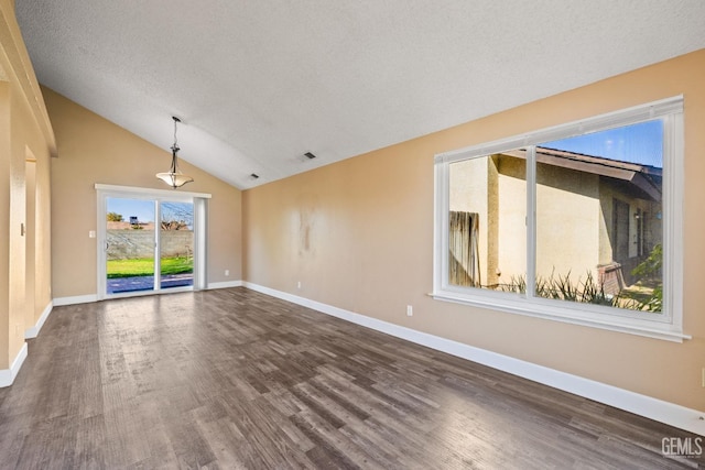
[[[245,278],[705,409],[705,51],[245,192]],[[683,94],[683,343],[433,300],[433,156]],[[595,225],[597,228],[597,223]],[[296,288],[301,281],[302,288]],[[414,316],[405,315],[405,305]]]

